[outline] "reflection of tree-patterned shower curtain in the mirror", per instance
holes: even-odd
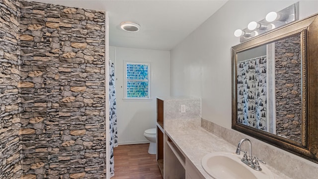
[[[267,130],[266,56],[238,62],[238,122]]]

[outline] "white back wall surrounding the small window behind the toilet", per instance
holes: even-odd
[[[156,96],[170,95],[170,52],[109,47],[115,65],[118,143],[145,143],[144,131],[156,127]],[[150,63],[152,100],[124,99],[124,63]]]

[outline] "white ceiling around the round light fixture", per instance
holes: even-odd
[[[34,0],[103,10],[109,17],[109,45],[171,50],[227,0]],[[122,21],[140,24],[138,32],[120,29]]]

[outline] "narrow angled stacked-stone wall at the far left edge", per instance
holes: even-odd
[[[18,0],[0,0],[0,179],[18,179],[22,174],[18,16]]]

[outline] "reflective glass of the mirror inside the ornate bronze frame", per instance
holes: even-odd
[[[301,33],[237,54],[237,123],[304,143]]]

